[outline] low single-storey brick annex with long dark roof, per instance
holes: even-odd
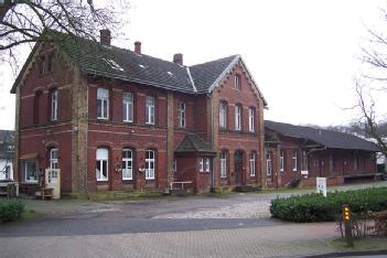
[[[316,176],[343,184],[377,175],[379,149],[358,137],[268,120],[265,135],[267,186],[315,185]]]

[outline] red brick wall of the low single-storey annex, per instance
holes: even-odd
[[[267,135],[270,132],[268,130]],[[272,135],[271,135],[272,137]],[[376,157],[375,153],[359,150],[343,150],[343,149],[304,149],[303,140],[290,137],[276,136],[275,138],[281,142],[278,147],[267,146],[267,151],[273,154],[273,168],[278,173],[278,179],[272,179],[278,182],[279,186],[286,186],[293,180],[302,179],[304,185],[315,185],[315,178],[323,176],[329,179],[329,184],[342,184],[346,178],[356,178],[362,175],[374,175],[376,173]],[[292,166],[292,151],[298,151],[297,170]],[[280,171],[279,159],[280,152],[284,153],[284,169]],[[302,164],[302,153],[308,153],[308,162]],[[357,160],[357,161],[356,161]],[[357,163],[357,165],[355,164]],[[308,170],[308,179],[301,175],[302,170]],[[270,185],[270,180],[267,180]],[[312,183],[311,183],[312,182]],[[275,186],[275,184],[271,184]]]

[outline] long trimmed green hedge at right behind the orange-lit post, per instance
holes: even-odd
[[[272,217],[290,222],[332,222],[348,204],[353,213],[387,211],[387,187],[277,197],[271,201]]]

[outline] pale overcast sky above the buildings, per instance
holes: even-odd
[[[343,125],[356,104],[365,25],[386,31],[385,0],[131,0],[130,23],[112,44],[184,64],[241,54],[269,109],[265,119],[291,123]],[[14,77],[0,69],[0,128],[14,125]],[[386,96],[384,96],[386,97]],[[379,94],[379,99],[381,95]],[[378,112],[387,101],[378,101]]]

